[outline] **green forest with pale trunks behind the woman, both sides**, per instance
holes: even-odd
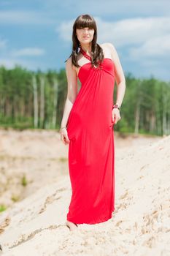
[[[79,90],[80,90],[80,81]],[[170,83],[125,74],[126,91],[117,132],[170,134]],[[117,86],[115,83],[114,100]],[[0,126],[15,129],[60,129],[67,95],[65,69],[36,72],[20,66],[0,67]]]

